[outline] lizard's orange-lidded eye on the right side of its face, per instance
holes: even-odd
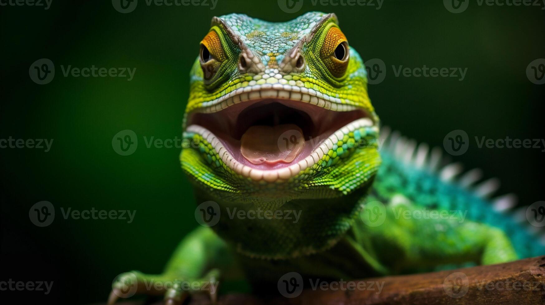
[[[331,27],[325,34],[320,57],[333,77],[346,74],[350,53],[346,36],[338,27]]]

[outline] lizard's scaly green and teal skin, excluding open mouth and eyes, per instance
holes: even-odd
[[[320,55],[331,27],[338,27],[335,15],[316,12],[284,23],[238,14],[215,18],[210,31],[221,41],[221,50],[216,50],[221,60],[213,63],[214,72],[206,77],[196,60],[186,113],[232,106],[236,101],[221,100],[239,96],[238,89],[246,88],[244,93],[250,94],[281,84],[331,101],[322,105],[325,108],[362,109],[375,124],[342,131],[316,163],[275,182],[237,173],[222,160],[214,143],[197,132],[184,132],[193,145],[181,152],[181,167],[195,185],[198,203],[213,200],[222,216],[213,227],[188,235],[164,274],[135,271],[122,276],[121,282],[136,274],[138,292],[166,293],[166,300],[175,303],[183,295],[180,290],[141,289],[144,280],[215,279],[220,270],[227,282],[244,279],[255,289],[274,290],[287,272],[338,280],[494,264],[545,253],[542,245],[531,242],[535,237],[512,217],[494,211],[487,199],[439,179],[429,162],[416,166],[414,158],[399,156],[401,142],[395,138],[389,138],[379,153],[378,117],[367,95],[360,56],[350,48],[348,68],[336,77],[328,68],[329,59]],[[282,63],[296,46],[304,55],[305,69],[286,71]],[[243,52],[252,61],[248,72],[239,69]],[[372,209],[366,209],[376,202],[383,208],[379,222],[369,212]],[[299,210],[301,216],[296,223],[227,217],[234,208]],[[425,208],[468,214],[464,221],[399,217],[403,211]],[[114,290],[119,285],[115,283]]]

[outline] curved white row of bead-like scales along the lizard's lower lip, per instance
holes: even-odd
[[[318,160],[327,154],[328,151],[333,148],[334,143],[337,143],[344,137],[344,135],[359,129],[360,127],[366,126],[373,126],[373,121],[369,118],[355,120],[325,139],[325,141],[323,141],[318,148],[314,149],[305,159],[299,161],[298,163],[292,164],[289,167],[271,170],[259,170],[245,166],[244,164],[238,162],[233,156],[231,156],[231,154],[229,154],[229,152],[227,152],[221,141],[219,141],[219,139],[217,139],[213,133],[202,126],[190,125],[187,127],[186,132],[197,133],[206,139],[206,141],[210,143],[212,147],[214,147],[223,163],[227,164],[227,166],[235,173],[246,178],[251,178],[255,181],[265,180],[267,182],[275,182],[278,179],[288,180],[289,178],[292,178],[305,170],[307,167],[313,166],[314,163],[317,163]],[[184,137],[187,137],[187,135],[184,134]]]

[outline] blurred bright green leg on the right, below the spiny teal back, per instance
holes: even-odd
[[[504,263],[517,259],[500,229],[469,221],[463,211],[430,210],[397,197],[387,205],[367,200],[356,230],[365,251],[390,272],[413,272],[448,265]],[[384,213],[376,217],[373,213]],[[358,235],[356,235],[358,236]]]

